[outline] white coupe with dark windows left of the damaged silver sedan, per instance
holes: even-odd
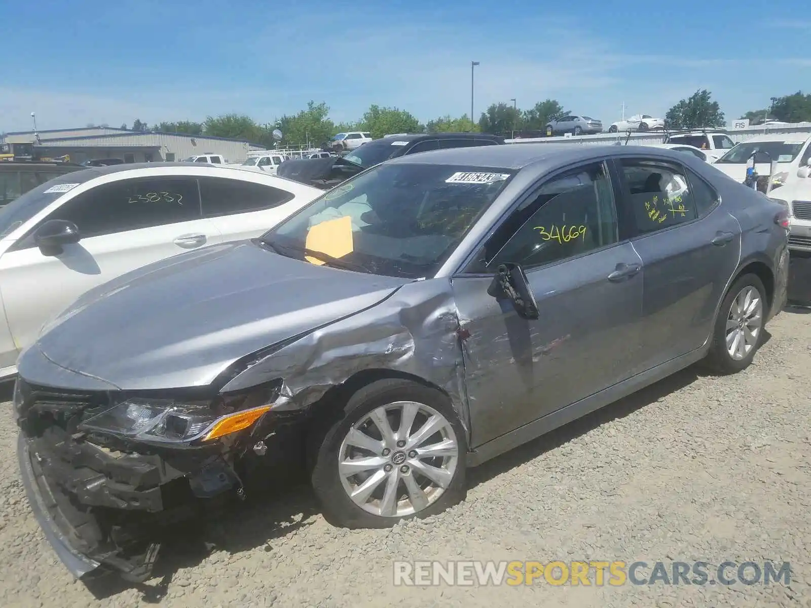
[[[0,379],[88,289],[183,251],[258,237],[323,194],[267,173],[183,163],[85,169],[28,191],[0,209]]]

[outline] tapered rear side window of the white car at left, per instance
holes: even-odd
[[[200,178],[204,217],[229,216],[278,207],[293,200],[292,192],[238,179]]]

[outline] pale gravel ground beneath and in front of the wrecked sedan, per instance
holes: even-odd
[[[328,525],[306,488],[175,539],[141,585],[72,580],[24,498],[0,404],[0,606],[811,606],[811,310],[744,373],[684,370],[470,472],[465,503],[392,530]],[[8,396],[0,397],[7,399]],[[792,583],[393,586],[393,559],[772,560]]]

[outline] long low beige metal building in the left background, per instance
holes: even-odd
[[[71,162],[120,158],[124,162],[182,161],[197,154],[220,154],[226,162],[241,162],[258,143],[205,135],[128,131],[105,126],[56,131],[6,133],[4,143],[33,145],[35,156],[67,155]]]

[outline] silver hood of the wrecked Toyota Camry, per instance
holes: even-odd
[[[19,375],[84,390],[204,386],[239,358],[374,306],[407,282],[250,241],[205,247],[86,293],[20,355]]]

